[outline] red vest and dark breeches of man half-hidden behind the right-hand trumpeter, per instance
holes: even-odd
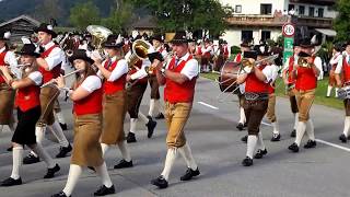
[[[298,104],[296,104],[296,97],[295,97],[295,94],[296,94],[295,80],[292,77],[294,61],[295,61],[294,56],[291,56],[290,59],[289,59],[289,67],[288,67],[288,72],[289,72],[288,82],[289,82],[289,84],[287,86],[289,101],[290,101],[290,104],[291,104],[291,111],[292,111],[293,114],[299,113]]]

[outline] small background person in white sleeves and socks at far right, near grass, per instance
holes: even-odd
[[[338,97],[338,88],[337,88],[335,70],[340,59],[341,59],[341,46],[335,45],[332,48],[332,57],[329,60],[330,70],[329,70],[329,81],[328,81],[327,95],[326,95],[327,97],[330,96],[332,88],[336,88],[336,97]]]

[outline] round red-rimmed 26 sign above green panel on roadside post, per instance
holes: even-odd
[[[282,34],[284,37],[283,63],[287,61],[289,57],[293,55],[294,33],[295,27],[293,24],[287,23],[282,26]]]

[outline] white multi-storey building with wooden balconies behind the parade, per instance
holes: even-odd
[[[234,12],[228,19],[230,28],[222,36],[229,45],[242,40],[258,44],[260,40],[277,39],[281,35],[289,15],[296,26],[296,37],[320,34],[320,38],[335,36],[332,21],[336,0],[220,0]]]

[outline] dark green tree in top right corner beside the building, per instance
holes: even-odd
[[[335,20],[336,39],[338,42],[350,40],[350,4],[349,0],[338,0],[336,10],[339,12]]]

